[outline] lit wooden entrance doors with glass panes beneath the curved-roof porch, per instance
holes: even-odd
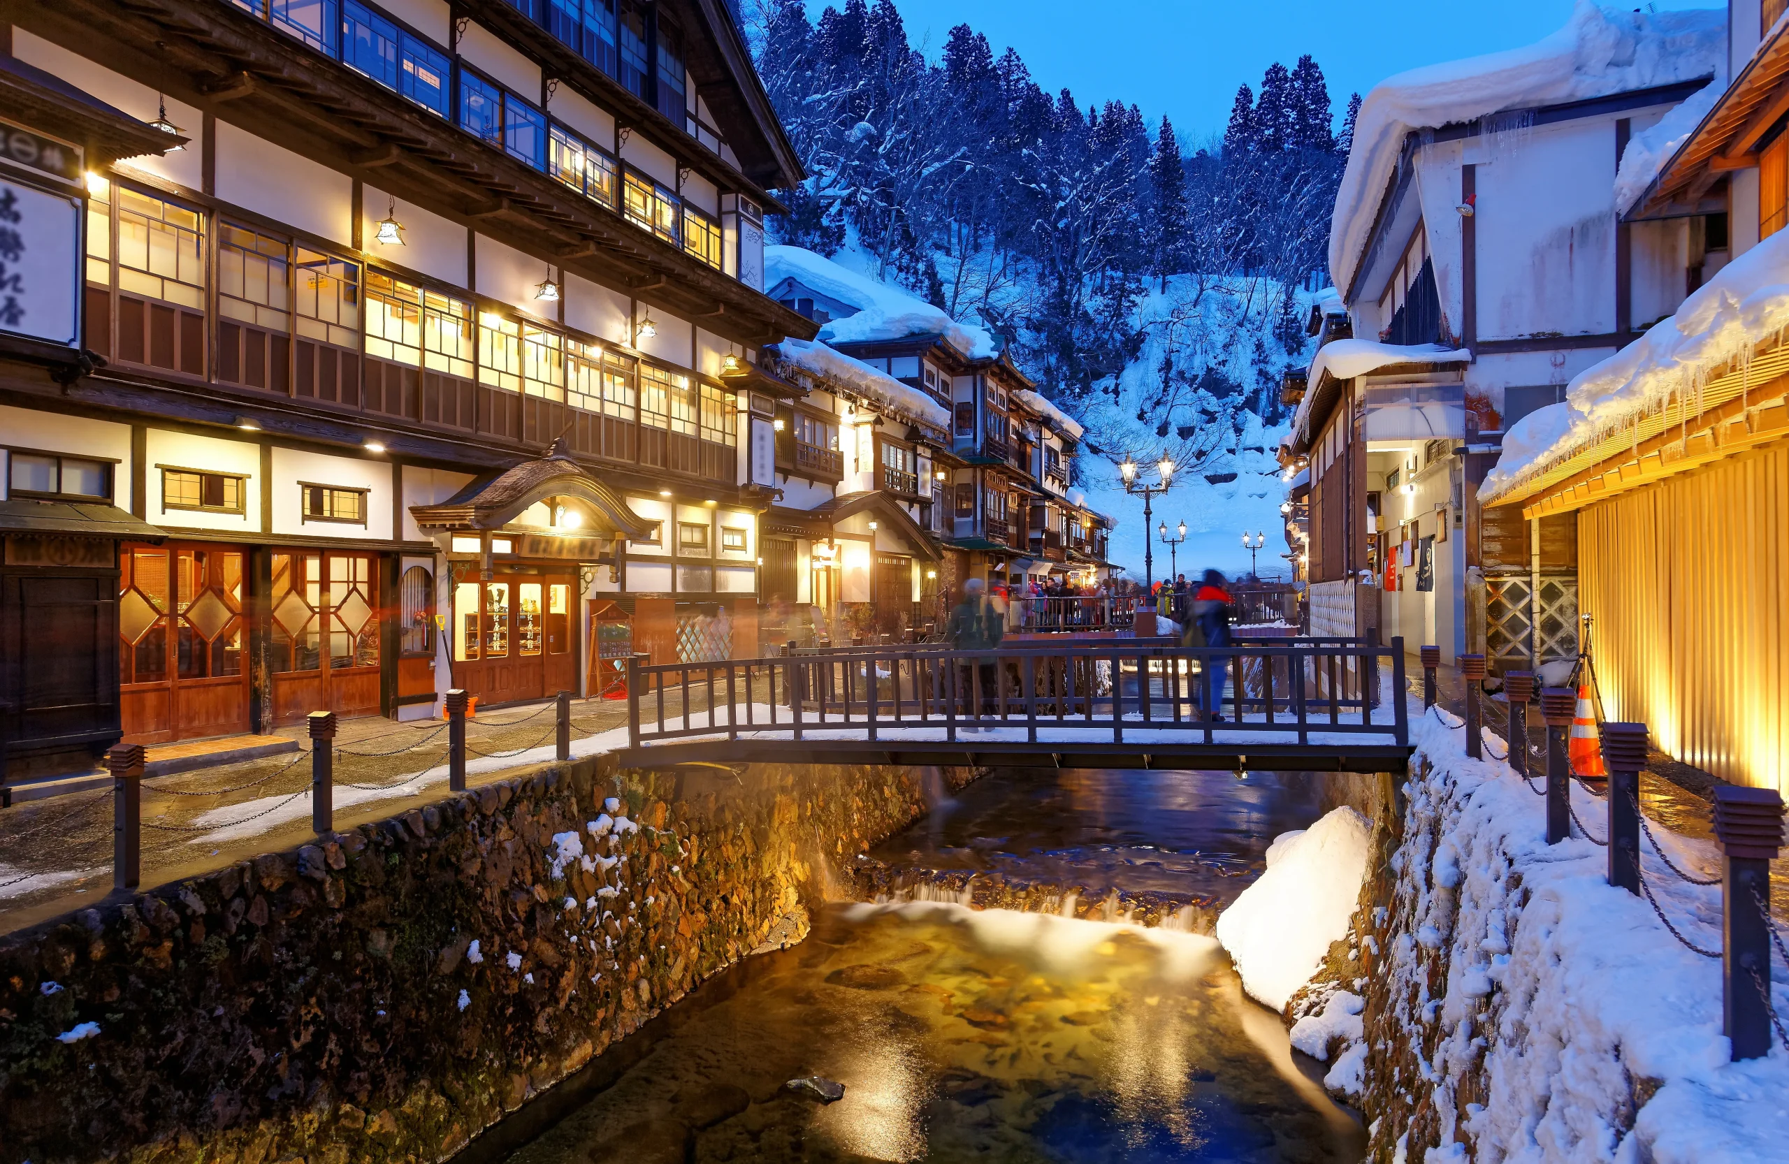
[[[456,581],[449,622],[454,687],[483,706],[578,690],[571,649],[574,581],[572,574],[546,570]]]

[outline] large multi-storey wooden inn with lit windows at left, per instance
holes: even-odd
[[[816,327],[721,0],[0,16],[14,771],[757,649],[755,361]]]

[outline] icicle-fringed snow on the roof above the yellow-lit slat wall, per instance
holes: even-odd
[[[1673,395],[1694,395],[1734,359],[1748,361],[1789,327],[1789,231],[1744,252],[1683,300],[1676,315],[1565,386],[1565,401],[1522,417],[1478,495],[1508,493],[1562,458]]]

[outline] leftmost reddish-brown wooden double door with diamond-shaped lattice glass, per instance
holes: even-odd
[[[125,545],[118,561],[118,694],[134,744],[249,731],[247,552]]]

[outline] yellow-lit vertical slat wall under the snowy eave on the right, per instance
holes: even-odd
[[[1580,608],[1610,719],[1723,780],[1789,792],[1789,445],[1580,511]]]

